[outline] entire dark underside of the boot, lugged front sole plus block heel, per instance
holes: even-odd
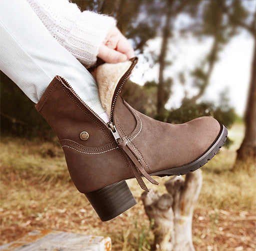
[[[221,125],[221,129],[216,140],[206,150],[206,152],[196,160],[184,166],[150,173],[149,175],[164,177],[171,175],[184,175],[195,171],[206,164],[208,160],[218,152],[219,148],[225,143],[226,137],[227,130]],[[115,218],[137,204],[124,180],[99,190],[86,193],[85,196],[102,222]]]

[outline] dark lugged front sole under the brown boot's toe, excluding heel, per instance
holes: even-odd
[[[150,173],[150,176],[171,176],[171,175],[184,175],[188,174],[189,172],[193,172],[203,165],[205,165],[218,151],[219,149],[224,145],[227,137],[227,129],[220,125],[221,129],[220,132],[215,139],[215,141],[212,143],[212,145],[196,160],[180,167],[174,167],[170,169],[166,169],[159,172]]]

